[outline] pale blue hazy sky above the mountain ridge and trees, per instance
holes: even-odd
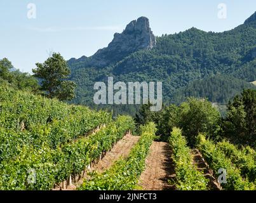
[[[36,5],[36,18],[27,16],[29,3]],[[227,18],[218,18],[220,3],[227,6]],[[66,60],[93,55],[140,16],[147,16],[154,34],[161,36],[191,27],[229,30],[255,11],[255,0],[1,0],[0,59],[31,72],[50,51]]]

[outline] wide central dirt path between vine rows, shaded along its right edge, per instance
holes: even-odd
[[[168,183],[168,180],[175,176],[171,155],[168,143],[154,141],[138,186],[143,190],[174,190],[175,188]]]

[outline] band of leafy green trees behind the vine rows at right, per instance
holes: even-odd
[[[210,101],[188,98],[180,105],[168,105],[161,112],[151,112],[151,105],[143,105],[137,112],[137,125],[155,122],[160,140],[168,140],[172,129],[182,129],[191,147],[199,133],[219,141],[224,138],[238,146],[256,147],[256,90],[245,89],[227,105],[223,117]]]

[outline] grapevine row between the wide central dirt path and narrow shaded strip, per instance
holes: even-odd
[[[191,150],[187,147],[181,129],[173,128],[169,138],[175,164],[175,185],[178,190],[206,190],[208,180],[192,164]]]

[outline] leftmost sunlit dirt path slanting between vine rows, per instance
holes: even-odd
[[[118,143],[114,145],[110,152],[107,152],[103,159],[101,159],[94,166],[91,166],[91,171],[98,171],[99,173],[102,173],[106,169],[109,169],[109,167],[111,167],[116,160],[121,157],[126,157],[130,153],[131,148],[137,143],[139,138],[140,136],[126,134],[126,136],[122,140],[119,140]],[[84,180],[85,179],[86,177],[84,178]],[[81,185],[84,180],[80,180],[75,185],[69,186],[67,190],[76,190],[76,188]]]

